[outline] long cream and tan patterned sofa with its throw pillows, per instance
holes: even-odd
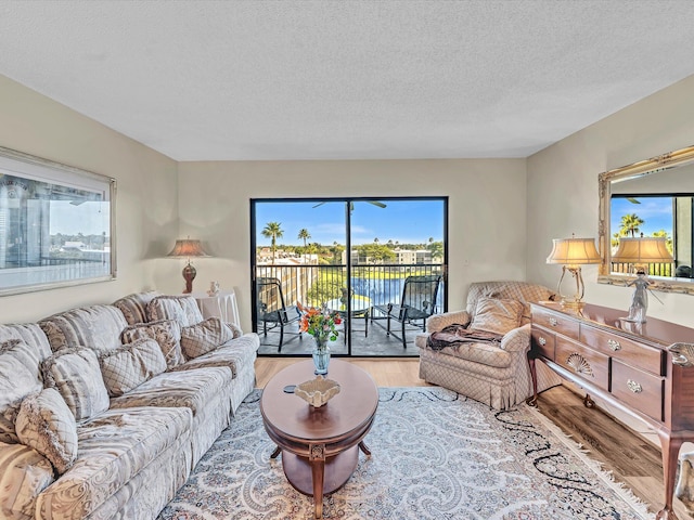
[[[255,386],[259,340],[191,297],[0,325],[0,519],[153,519]]]

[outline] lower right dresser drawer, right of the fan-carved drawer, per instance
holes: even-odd
[[[617,360],[612,362],[612,394],[632,408],[656,420],[663,417],[665,379]]]

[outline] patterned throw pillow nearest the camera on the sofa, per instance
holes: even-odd
[[[46,388],[22,402],[16,421],[17,438],[48,458],[57,474],[77,458],[77,425],[65,400],[54,388]]]

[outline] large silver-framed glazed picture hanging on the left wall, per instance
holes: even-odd
[[[0,295],[115,278],[115,180],[0,148]]]

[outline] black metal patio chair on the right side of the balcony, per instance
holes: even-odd
[[[373,306],[371,323],[383,327],[378,320],[386,320],[386,326],[383,327],[386,329],[386,334],[401,340],[402,347],[407,348],[406,325],[413,325],[426,332],[426,318],[432,314],[436,314],[437,311],[436,298],[441,280],[442,276],[440,274],[408,276],[404,278],[404,285],[402,286],[400,304]],[[400,322],[401,336],[390,330],[391,320]],[[422,323],[419,324],[416,323],[417,321]]]

